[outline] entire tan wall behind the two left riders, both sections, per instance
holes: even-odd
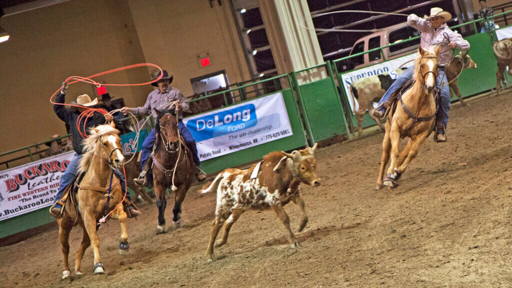
[[[69,76],[147,62],[174,74],[172,86],[185,95],[193,94],[190,78],[215,71],[226,70],[230,83],[249,79],[228,2],[212,3],[213,8],[204,0],[72,0],[0,18],[11,34],[0,44],[0,152],[65,133],[49,98]],[[209,67],[199,68],[201,52],[209,53]],[[136,68],[97,80],[142,83],[149,72]],[[142,106],[152,89],[108,88],[130,107]],[[92,96],[94,87],[72,85],[67,102],[82,93]]]

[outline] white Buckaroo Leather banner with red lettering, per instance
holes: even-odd
[[[0,172],[0,221],[53,204],[74,151]]]

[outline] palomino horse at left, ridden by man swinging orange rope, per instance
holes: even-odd
[[[126,234],[126,213],[123,211],[121,186],[116,177],[112,177],[113,169],[123,166],[124,157],[121,150],[119,131],[115,129],[114,122],[110,125],[99,125],[91,128],[89,138],[84,139],[84,151],[87,151],[80,160],[80,171],[84,171],[82,181],[76,196],[79,212],[70,202],[66,204],[66,212],[57,220],[59,225],[59,239],[64,257],[62,279],[68,278],[71,271],[68,265],[69,234],[71,229],[79,224],[83,230],[82,242],[75,256],[75,274],[80,275],[80,262],[83,253],[92,244],[94,251],[94,273],[104,273],[103,265],[99,259],[99,239],[96,233],[98,220],[112,211],[110,218],[119,219],[121,225],[121,242],[119,254],[129,252],[128,235]],[[110,197],[108,188],[112,181]],[[72,193],[72,192],[69,192]],[[73,197],[73,196],[72,196]],[[110,206],[107,204],[109,203]],[[119,205],[116,205],[119,203]]]

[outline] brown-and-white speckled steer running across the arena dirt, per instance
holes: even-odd
[[[246,170],[228,168],[215,178],[202,193],[217,191],[217,207],[215,220],[212,222],[210,242],[208,244],[208,261],[214,258],[214,242],[219,230],[224,226],[224,234],[215,246],[224,245],[231,225],[249,209],[272,207],[288,231],[291,248],[297,246],[295,235],[290,229],[290,218],[283,209],[293,201],[301,210],[302,219],[298,227],[301,232],[308,222],[300,185],[306,183],[319,186],[320,178],[316,176],[316,160],[313,148],[293,151],[288,154],[282,151],[271,152],[263,156],[263,161],[253,164]]]

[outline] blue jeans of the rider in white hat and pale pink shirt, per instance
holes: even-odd
[[[393,92],[400,89],[404,84],[406,84],[407,81],[412,79],[413,74],[414,66],[411,66],[406,71],[403,71],[403,73],[396,78],[395,82],[390,86],[388,91],[386,91],[386,94],[380,98],[379,105],[383,102],[386,102],[389,96],[393,94]],[[441,120],[444,127],[448,125],[448,112],[450,111],[450,86],[446,85],[447,83],[448,80],[446,77],[444,77],[444,69],[439,69],[439,75],[437,75],[436,84],[437,88],[440,90],[441,107],[439,107],[439,110],[441,111]],[[384,107],[379,108],[379,111],[384,112],[385,110],[386,109]]]

